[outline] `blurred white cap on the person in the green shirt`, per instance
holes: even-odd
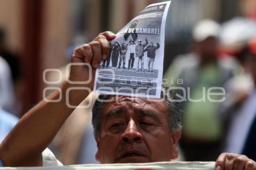
[[[214,20],[204,19],[199,21],[193,28],[195,41],[204,41],[208,37],[219,37],[220,25]]]

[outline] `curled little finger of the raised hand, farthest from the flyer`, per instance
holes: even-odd
[[[90,62],[92,59],[92,50],[88,44],[76,47],[72,54],[72,62]]]

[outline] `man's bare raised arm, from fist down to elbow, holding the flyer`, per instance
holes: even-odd
[[[73,112],[66,104],[66,92],[70,87],[87,88],[87,90],[71,90],[68,96],[70,105],[79,105],[93,90],[95,69],[109,53],[108,40],[115,38],[111,32],[98,35],[89,44],[77,47],[73,51],[72,63],[88,63],[92,67],[91,74],[86,65],[72,65],[69,80],[86,81],[87,84],[70,84],[64,82],[60,89],[62,98],[59,102],[42,101],[28,111],[7,135],[0,145],[0,159],[4,166],[40,166],[41,153],[50,144],[67,117]],[[60,93],[54,91],[48,100],[58,99]]]

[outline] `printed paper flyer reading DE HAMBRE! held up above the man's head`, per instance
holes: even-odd
[[[170,3],[148,5],[109,41],[109,56],[96,70],[95,92],[160,98]]]

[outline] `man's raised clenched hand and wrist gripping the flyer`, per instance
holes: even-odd
[[[110,46],[108,40],[115,38],[116,35],[106,31],[100,33],[92,42],[76,47],[72,54],[72,63],[82,63],[72,65],[69,80],[73,82],[83,82],[92,78],[88,84],[80,84],[83,87],[93,89],[95,69],[99,67],[100,61],[108,57]],[[85,65],[84,63],[87,63]],[[90,68],[92,72],[90,72]]]

